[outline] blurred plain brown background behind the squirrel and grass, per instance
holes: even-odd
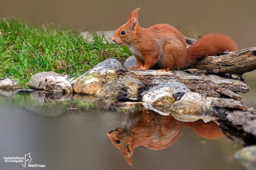
[[[0,17],[15,16],[32,24],[53,22],[67,29],[100,31],[117,29],[132,10],[141,8],[142,27],[167,23],[184,36],[197,38],[207,32],[222,32],[237,41],[239,49],[256,46],[256,1],[114,1],[114,0],[1,0]],[[250,85],[243,96],[246,106],[256,106],[256,72],[244,74]]]

